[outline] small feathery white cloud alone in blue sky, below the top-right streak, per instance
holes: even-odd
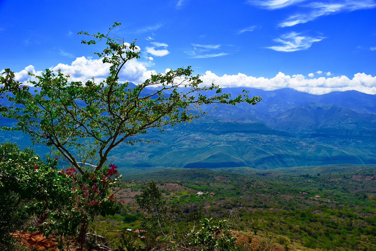
[[[276,38],[273,40],[275,42],[282,43],[282,46],[270,46],[267,48],[274,51],[284,52],[300,51],[308,49],[314,42],[318,42],[323,39],[323,37],[306,37],[301,35],[301,33],[290,32],[282,35],[281,38]]]

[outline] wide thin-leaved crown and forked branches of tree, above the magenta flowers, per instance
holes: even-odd
[[[260,96],[250,98],[243,90],[231,99],[221,88],[202,86],[200,76],[193,76],[190,67],[170,70],[166,74],[152,75],[134,88],[119,82],[119,73],[129,60],[139,58],[140,51],[123,38],[111,36],[115,22],[105,34],[79,34],[93,37],[83,44],[96,44],[105,40],[106,48],[95,53],[109,64],[108,77],[99,83],[92,78],[85,83],[71,82],[69,75],[46,69],[41,76],[29,73],[34,93],[23,83],[15,81],[14,72],[6,69],[0,77],[0,93],[13,102],[2,106],[2,115],[17,121],[12,128],[31,136],[33,143],[56,148],[80,173],[86,163],[99,171],[106,163],[110,151],[121,143],[146,141],[140,135],[151,128],[163,131],[166,125],[191,121],[206,113],[203,104],[225,103],[235,105],[246,102],[255,105]],[[151,89],[152,87],[152,89]],[[214,90],[214,96],[205,91]]]

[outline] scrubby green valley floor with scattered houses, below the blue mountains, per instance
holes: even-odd
[[[161,191],[169,193],[167,205],[186,213],[200,211],[223,219],[237,209],[243,220],[253,220],[251,232],[274,233],[277,242],[290,249],[291,243],[299,243],[324,250],[376,250],[375,169],[337,168],[320,176],[310,168],[293,168],[292,172],[300,170],[295,174],[274,170],[252,175],[180,169],[143,174],[144,181],[136,182],[140,175],[125,180],[133,180],[140,191],[148,179],[159,180]],[[198,191],[206,194],[198,196]],[[126,208],[132,214],[134,200],[128,201]]]

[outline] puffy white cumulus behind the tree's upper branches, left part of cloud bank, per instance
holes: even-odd
[[[98,82],[104,80],[109,74],[110,64],[103,64],[101,59],[92,59],[86,57],[76,58],[71,64],[58,64],[51,67],[50,70],[55,72],[61,69],[65,75],[69,74],[70,81],[85,81],[94,77]],[[36,71],[34,66],[29,65],[24,70],[15,73],[16,80],[26,83],[30,79],[27,72],[35,75],[41,75],[42,71]],[[142,63],[131,60],[128,61],[119,74],[120,82],[143,83],[150,78],[151,74],[156,74],[154,70],[147,70]]]

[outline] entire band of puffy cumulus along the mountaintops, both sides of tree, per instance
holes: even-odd
[[[58,64],[50,69],[56,72],[59,68],[62,70],[62,73],[71,75],[70,81],[85,81],[94,77],[99,82],[105,79],[109,73],[108,64],[103,64],[100,59],[92,60],[85,57],[76,58],[72,64]],[[166,69],[165,72],[167,73],[169,70]],[[34,66],[29,65],[24,70],[15,73],[16,80],[26,83],[30,79],[27,72],[41,75],[41,71],[36,71]],[[150,78],[151,74],[156,74],[156,72],[154,70],[147,70],[146,66],[142,63],[133,60],[125,65],[119,77],[120,82],[142,83],[147,78]],[[243,73],[219,77],[215,73],[207,71],[200,78],[203,80],[203,84],[210,85],[214,80],[215,84],[221,87],[254,87],[263,90],[288,87],[301,92],[318,95],[346,90],[358,90],[359,92],[376,94],[376,76],[372,77],[365,73],[356,73],[352,79],[346,76],[306,79],[301,74],[289,76],[282,72],[279,72],[273,78],[256,78]]]

